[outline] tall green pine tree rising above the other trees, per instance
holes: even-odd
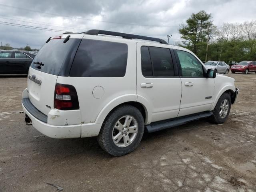
[[[198,54],[198,46],[206,42],[206,36],[209,33],[208,28],[212,26],[212,16],[204,10],[190,16],[186,20],[186,24],[181,24],[179,32],[181,38],[188,40],[184,44],[190,48],[195,54]]]

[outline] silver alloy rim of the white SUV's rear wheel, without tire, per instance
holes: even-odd
[[[133,116],[122,116],[115,123],[112,139],[118,147],[129,146],[138,134],[138,122]]]

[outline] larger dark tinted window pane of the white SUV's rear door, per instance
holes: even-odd
[[[174,76],[172,56],[168,48],[149,47],[154,76]]]

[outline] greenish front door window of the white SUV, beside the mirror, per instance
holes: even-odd
[[[189,52],[177,50],[183,77],[204,77],[202,64]]]

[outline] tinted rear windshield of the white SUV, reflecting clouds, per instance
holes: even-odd
[[[63,39],[50,40],[48,43],[45,43],[36,54],[31,67],[45,73],[58,75],[74,43],[76,43],[76,39],[74,38],[70,38],[66,43],[63,43]],[[42,62],[44,66],[39,67],[33,64],[34,62]]]

